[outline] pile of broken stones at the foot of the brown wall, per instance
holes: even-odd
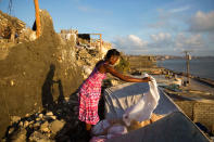
[[[13,116],[12,125],[2,141],[88,141],[90,135],[77,119],[77,95],[73,95],[58,102],[52,109],[43,109],[30,116],[27,114],[23,118]]]

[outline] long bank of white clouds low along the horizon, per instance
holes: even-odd
[[[119,49],[126,54],[174,54],[181,51],[192,50],[202,52],[209,47],[200,34],[179,33],[171,35],[168,33],[158,33],[150,35],[150,40],[146,41],[136,35],[117,37],[113,41],[113,48]],[[199,52],[199,53],[200,53]]]

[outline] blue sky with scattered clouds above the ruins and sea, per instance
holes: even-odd
[[[0,10],[9,12],[9,0]],[[55,31],[102,34],[126,54],[214,56],[214,0],[39,0]],[[32,27],[34,0],[13,0],[11,15]]]

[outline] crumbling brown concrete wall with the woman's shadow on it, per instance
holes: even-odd
[[[59,95],[71,95],[83,82],[73,47],[55,34],[51,16],[40,12],[41,36],[10,49],[0,61],[0,137],[11,116],[49,107]]]

